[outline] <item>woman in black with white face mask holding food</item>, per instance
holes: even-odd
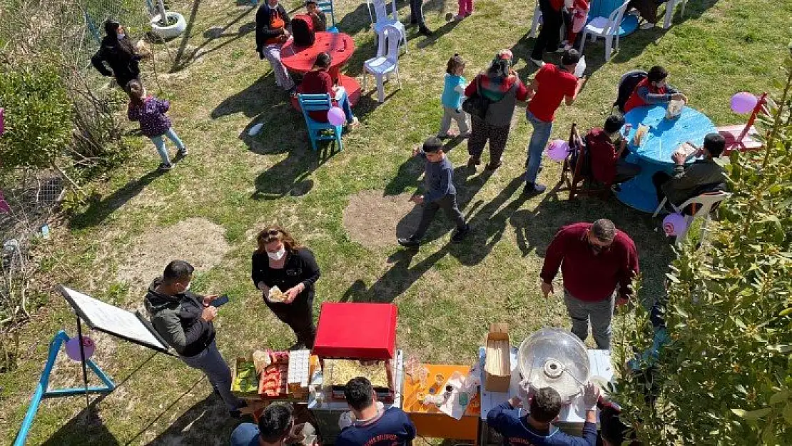
[[[264,303],[297,335],[292,349],[314,347],[314,284],[320,271],[314,253],[295,242],[280,226],[266,227],[257,237],[253,253],[253,284],[261,290]],[[270,289],[284,293],[276,300]]]

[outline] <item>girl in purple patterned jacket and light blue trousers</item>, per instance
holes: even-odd
[[[130,100],[127,110],[129,120],[139,121],[140,132],[148,136],[154,146],[157,147],[159,156],[162,158],[159,170],[173,169],[163,136],[167,136],[176,145],[179,150],[177,153],[180,157],[187,156],[187,147],[185,147],[185,143],[181,142],[176,132],[173,132],[170,119],[165,114],[170,108],[170,101],[147,96],[146,89],[143,88],[143,84],[138,80],[132,80],[127,84],[127,92]]]

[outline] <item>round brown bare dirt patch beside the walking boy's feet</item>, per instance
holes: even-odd
[[[349,198],[344,209],[344,227],[353,242],[367,248],[395,245],[418,226],[420,207],[409,201],[409,193],[383,196],[383,191],[364,190]]]

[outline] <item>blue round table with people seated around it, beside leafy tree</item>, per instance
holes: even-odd
[[[641,173],[623,183],[622,190],[616,197],[630,208],[643,212],[654,212],[657,209],[657,192],[652,176],[659,171],[672,174],[674,161],[671,155],[676,148],[687,141],[701,146],[704,136],[718,132],[710,118],[687,105],[682,114],[673,120],[665,119],[665,109],[666,105],[637,107],[624,115],[625,123],[633,126],[630,135],[627,135],[630,141],[627,161],[641,166]],[[641,146],[634,147],[633,136],[640,124],[649,126],[649,131],[646,132]]]

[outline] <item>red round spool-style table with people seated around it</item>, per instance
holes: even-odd
[[[347,63],[355,52],[355,41],[344,32],[315,32],[314,44],[310,47],[299,47],[290,39],[283,48],[280,49],[280,61],[288,71],[299,74],[306,74],[314,67],[314,60],[321,52],[330,54],[329,74],[333,82],[343,86],[349,97],[349,104],[355,105],[360,99],[360,83],[355,78],[350,78],[339,73],[341,67]],[[297,86],[297,92],[303,93],[301,86]],[[299,110],[297,98],[293,98],[291,105]]]

